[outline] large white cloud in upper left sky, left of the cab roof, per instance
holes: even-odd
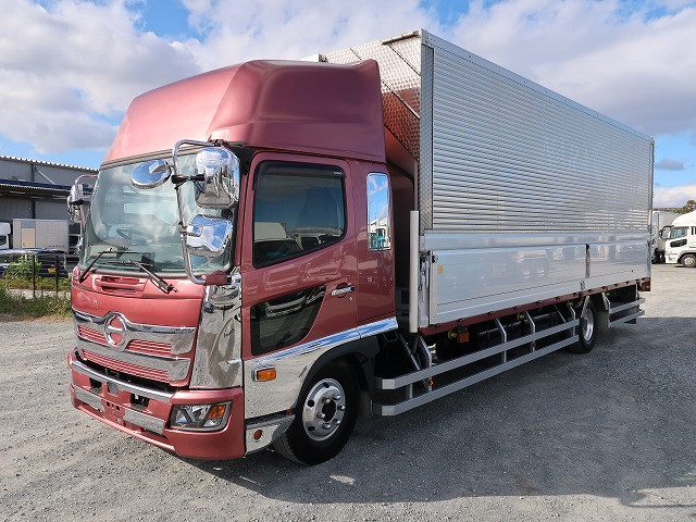
[[[41,153],[105,149],[136,95],[199,72],[128,3],[0,0],[0,134]]]

